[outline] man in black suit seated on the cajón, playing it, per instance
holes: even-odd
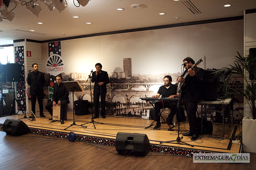
[[[45,108],[48,110],[50,115],[52,116],[52,106],[60,106],[60,124],[64,124],[64,117],[67,114],[67,103],[69,103],[68,99],[68,90],[62,83],[62,77],[56,77],[57,85],[54,85],[52,101],[49,102]],[[52,120],[50,118],[49,120]]]

